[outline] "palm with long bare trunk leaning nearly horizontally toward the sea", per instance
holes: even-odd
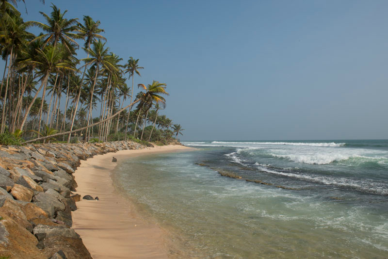
[[[120,109],[119,111],[117,111],[116,113],[112,114],[111,116],[103,119],[103,120],[100,120],[96,123],[93,123],[89,126],[86,126],[86,127],[82,127],[80,129],[74,129],[74,130],[70,130],[70,131],[66,131],[66,132],[61,132],[61,133],[56,133],[54,135],[51,135],[51,137],[56,137],[56,136],[61,136],[61,135],[66,135],[66,134],[71,134],[71,133],[74,133],[74,132],[78,132],[78,131],[81,131],[83,129],[87,129],[87,128],[90,128],[90,127],[94,127],[94,126],[97,126],[103,122],[106,122],[108,120],[111,120],[113,119],[114,117],[116,117],[118,114],[120,114],[122,111],[128,109],[130,106],[138,103],[141,101],[141,99],[147,99],[147,98],[150,98],[152,99],[154,102],[162,102],[162,103],[165,103],[165,99],[164,97],[162,97],[161,95],[168,95],[168,93],[166,92],[165,90],[165,84],[161,84],[159,83],[158,81],[153,81],[152,84],[148,84],[147,87],[144,85],[144,84],[139,84],[139,87],[142,87],[144,90],[146,90],[145,93],[142,93],[142,98],[136,98],[136,100],[134,100],[133,102],[129,103],[127,106],[125,106],[124,108]],[[31,142],[35,142],[35,141],[39,141],[39,140],[43,140],[43,139],[47,139],[49,137],[39,137],[39,138],[36,138],[36,139],[32,139],[32,140],[29,140],[29,141],[26,141],[25,143],[31,143]]]

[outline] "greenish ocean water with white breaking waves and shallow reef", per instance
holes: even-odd
[[[182,144],[113,175],[172,258],[388,258],[388,140]]]

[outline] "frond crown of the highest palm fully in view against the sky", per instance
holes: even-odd
[[[74,52],[74,47],[72,44],[78,46],[78,43],[74,39],[82,38],[77,33],[74,33],[78,30],[77,27],[77,19],[66,19],[64,16],[67,13],[61,13],[61,9],[58,9],[54,4],[51,4],[51,14],[48,16],[43,12],[39,12],[46,19],[47,24],[41,22],[32,22],[35,26],[41,28],[45,34],[39,35],[34,40],[43,39],[44,47],[47,46],[48,43],[52,43],[53,46],[56,46],[59,41],[65,46],[65,49],[70,53]],[[33,40],[33,41],[34,41]]]

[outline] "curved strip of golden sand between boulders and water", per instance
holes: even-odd
[[[73,228],[94,259],[163,259],[168,247],[163,230],[146,222],[128,199],[113,188],[111,171],[129,157],[163,152],[176,152],[192,148],[179,145],[122,150],[97,155],[81,161],[74,176],[77,194],[89,194],[99,200],[81,200],[78,210],[72,212]]]

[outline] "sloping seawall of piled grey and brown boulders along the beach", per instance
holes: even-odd
[[[71,228],[81,199],[73,174],[81,160],[143,148],[132,141],[0,146],[0,258],[91,259]]]

